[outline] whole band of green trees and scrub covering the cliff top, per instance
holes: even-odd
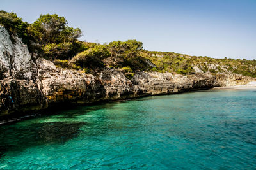
[[[109,67],[120,69],[127,78],[136,71],[159,71],[178,74],[237,73],[256,77],[256,60],[213,59],[174,52],[150,52],[136,40],[112,41],[99,45],[79,41],[82,32],[68,26],[64,17],[40,15],[29,24],[15,13],[0,11],[0,25],[10,34],[18,34],[28,45],[30,53],[52,60],[57,66],[80,69]]]

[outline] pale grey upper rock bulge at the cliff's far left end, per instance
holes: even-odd
[[[28,48],[17,36],[12,36],[0,26],[0,74],[3,78],[29,79],[36,72]]]

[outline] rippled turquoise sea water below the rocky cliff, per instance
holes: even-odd
[[[76,106],[0,132],[0,169],[255,169],[256,91]]]

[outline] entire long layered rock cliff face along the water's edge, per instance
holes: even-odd
[[[12,39],[12,41],[11,41]],[[31,57],[17,36],[0,27],[0,115],[40,110],[60,102],[91,103],[186,90],[241,85],[255,81],[239,74],[182,76],[136,73],[132,80],[116,69],[93,74],[61,69],[51,61]]]

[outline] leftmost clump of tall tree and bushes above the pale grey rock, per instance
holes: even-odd
[[[33,24],[28,24],[15,13],[0,11],[0,25],[10,34],[18,34],[28,45],[29,52],[36,52],[51,60],[68,59],[88,49],[83,42],[77,41],[82,35],[81,30],[67,24],[64,17],[56,14],[40,15]]]

